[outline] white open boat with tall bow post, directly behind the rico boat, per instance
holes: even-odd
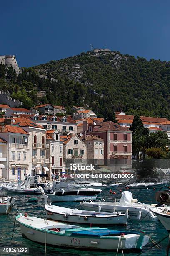
[[[51,204],[48,205],[47,195],[44,198],[46,216],[52,220],[92,225],[127,225],[128,211],[122,214],[121,212],[108,213],[70,209]]]

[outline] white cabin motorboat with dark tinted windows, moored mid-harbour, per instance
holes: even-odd
[[[48,194],[48,197],[52,202],[95,200],[100,192],[101,189],[66,188],[55,190],[52,194]]]

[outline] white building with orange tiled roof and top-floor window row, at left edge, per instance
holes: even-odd
[[[24,180],[29,173],[29,133],[18,126],[0,123],[1,177]]]

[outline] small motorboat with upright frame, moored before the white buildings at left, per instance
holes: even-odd
[[[7,192],[11,193],[19,193],[19,194],[28,194],[28,195],[40,195],[44,194],[44,190],[42,187],[31,188],[30,187],[30,177],[26,180],[26,182],[18,181],[18,187],[13,187],[10,185],[3,185],[2,189],[6,190]]]

